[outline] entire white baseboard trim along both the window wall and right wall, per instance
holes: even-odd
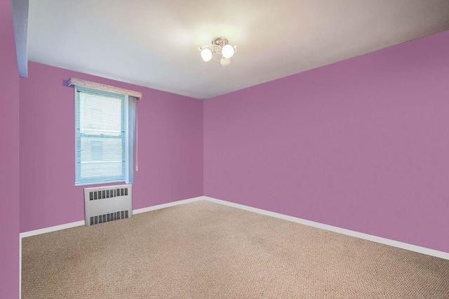
[[[330,232],[337,232],[339,234],[346,234],[348,236],[351,237],[356,237],[356,238],[360,238],[360,239],[366,239],[368,241],[374,241],[380,244],[386,244],[389,246],[394,246],[394,247],[398,247],[398,248],[403,248],[409,251],[415,251],[417,253],[424,253],[427,255],[432,255],[432,256],[436,256],[437,258],[444,258],[445,260],[449,260],[449,253],[445,253],[443,251],[436,251],[434,249],[430,249],[430,248],[426,248],[426,247],[422,247],[422,246],[417,246],[417,245],[413,245],[413,244],[408,244],[408,243],[403,243],[401,241],[394,241],[391,239],[385,239],[382,237],[377,237],[377,236],[373,236],[371,234],[364,234],[363,232],[356,232],[354,230],[346,230],[344,228],[341,227],[335,227],[332,225],[326,225],[323,223],[319,223],[319,222],[314,222],[314,221],[310,221],[310,220],[305,220],[302,218],[297,218],[297,217],[293,217],[293,216],[289,216],[289,215],[284,215],[281,213],[275,213],[272,211],[267,211],[267,210],[262,210],[261,208],[253,208],[252,206],[245,206],[243,204],[235,204],[231,201],[225,201],[222,199],[215,199],[213,197],[194,197],[191,199],[183,199],[180,201],[173,201],[173,202],[169,202],[167,204],[159,204],[157,206],[149,206],[147,208],[138,208],[133,210],[133,214],[138,214],[138,213],[145,213],[148,211],[154,211],[154,210],[158,210],[160,208],[168,208],[170,206],[178,206],[180,204],[188,204],[190,202],[194,202],[194,201],[200,201],[200,200],[206,200],[206,201],[210,201],[213,202],[215,204],[223,204],[226,206],[232,206],[234,208],[240,208],[242,210],[245,211],[250,211],[253,213],[259,213],[262,215],[267,215],[267,216],[271,216],[274,218],[279,218],[279,219],[283,219],[283,220],[288,220],[288,221],[292,221],[292,222],[296,222],[296,223],[300,223],[302,225],[309,225],[311,227],[316,227],[316,228],[320,228],[321,230],[328,230]],[[45,234],[46,232],[55,232],[57,230],[65,230],[66,228],[71,228],[71,227],[76,227],[76,226],[80,226],[80,225],[84,225],[84,220],[81,221],[76,221],[76,222],[70,222],[64,225],[56,225],[53,227],[46,227],[46,228],[42,228],[40,230],[32,230],[29,232],[22,232],[20,233],[20,239],[25,238],[25,237],[30,237],[30,236],[34,236],[36,234]],[[21,246],[20,246],[21,247]],[[21,251],[22,248],[20,248]]]

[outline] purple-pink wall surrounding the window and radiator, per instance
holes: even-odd
[[[203,193],[203,102],[30,62],[29,77],[20,79],[21,232],[84,217],[83,187],[74,186],[70,77],[143,93],[133,208]]]

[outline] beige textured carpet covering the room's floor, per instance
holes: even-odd
[[[198,201],[22,240],[22,298],[449,298],[449,260]]]

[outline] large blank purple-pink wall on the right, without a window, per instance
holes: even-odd
[[[449,32],[206,100],[204,193],[449,252]]]

